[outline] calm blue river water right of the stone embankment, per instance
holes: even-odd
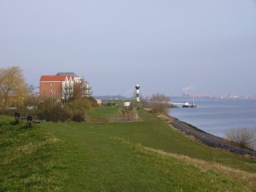
[[[171,101],[192,103],[192,98],[172,97]],[[169,114],[218,137],[225,137],[230,129],[256,129],[256,99],[199,98],[194,102],[197,108],[172,108]]]

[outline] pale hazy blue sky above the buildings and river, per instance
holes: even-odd
[[[94,96],[256,95],[256,0],[0,0],[0,68]]]

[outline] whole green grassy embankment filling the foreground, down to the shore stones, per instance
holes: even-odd
[[[93,113],[102,119],[111,107]],[[143,109],[135,123],[0,116],[0,191],[255,191],[256,160],[184,137]]]

